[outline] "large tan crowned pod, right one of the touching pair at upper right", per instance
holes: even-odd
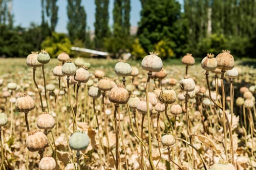
[[[222,53],[219,53],[216,56],[216,60],[218,62],[217,68],[221,70],[230,70],[235,66],[234,57],[230,54],[230,51],[227,50],[223,50]]]

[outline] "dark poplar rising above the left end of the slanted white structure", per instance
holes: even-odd
[[[85,8],[81,6],[81,0],[67,0],[67,31],[71,42],[75,39],[82,40],[85,43],[86,37],[86,13]]]

